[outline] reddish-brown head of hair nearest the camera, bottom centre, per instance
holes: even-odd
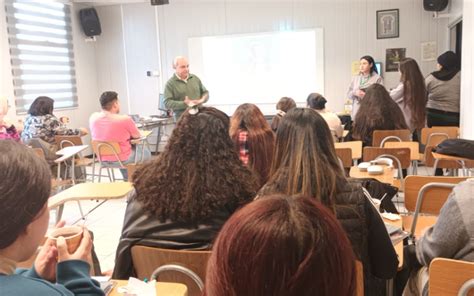
[[[355,257],[322,204],[275,195],[224,224],[207,265],[204,295],[355,295]]]

